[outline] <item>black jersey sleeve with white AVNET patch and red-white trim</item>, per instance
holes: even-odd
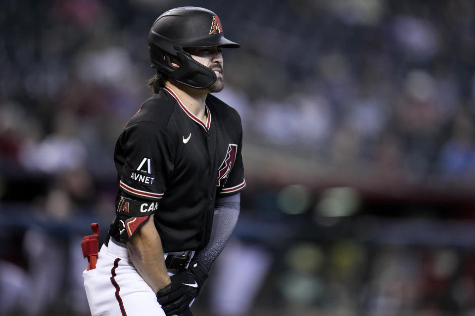
[[[122,192],[136,199],[159,201],[173,170],[169,136],[153,123],[139,122],[124,130],[119,143],[123,153],[122,170],[118,170]]]

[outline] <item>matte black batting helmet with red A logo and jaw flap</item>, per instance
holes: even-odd
[[[216,74],[196,62],[183,48],[212,46],[238,48],[239,44],[224,37],[218,16],[204,8],[186,6],[168,10],[155,20],[148,33],[151,66],[195,89],[212,85]],[[180,68],[172,66],[170,57],[180,60]]]

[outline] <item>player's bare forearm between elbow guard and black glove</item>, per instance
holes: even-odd
[[[136,236],[127,242],[127,249],[135,268],[155,293],[171,283],[162,242],[153,224],[153,214]]]

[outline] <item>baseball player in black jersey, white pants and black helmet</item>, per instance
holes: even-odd
[[[212,11],[180,7],[157,18],[148,46],[154,95],[117,140],[116,216],[97,255],[83,248],[93,316],[191,315],[246,185],[239,115],[209,94],[224,86],[221,50],[239,45]]]

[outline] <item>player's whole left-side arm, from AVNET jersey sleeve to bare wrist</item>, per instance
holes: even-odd
[[[150,122],[128,126],[116,146],[122,190],[117,209],[120,241],[127,244],[132,263],[154,292],[171,282],[153,217],[173,170],[173,156],[165,130]]]

